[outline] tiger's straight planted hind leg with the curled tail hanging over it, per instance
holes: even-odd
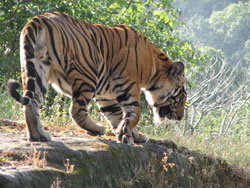
[[[8,82],[8,90],[11,96],[23,105],[24,117],[28,128],[29,141],[50,141],[51,136],[42,126],[39,107],[44,101],[48,90],[49,64],[47,62],[47,48],[41,45],[32,50],[21,50],[21,69],[24,95],[21,96],[17,89],[20,84],[15,80]],[[22,49],[22,46],[21,46]],[[29,54],[33,52],[34,54]],[[35,58],[27,58],[34,56]]]

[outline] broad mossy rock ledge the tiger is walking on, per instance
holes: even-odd
[[[1,131],[0,187],[247,187],[227,163],[167,140],[130,146],[104,137],[29,143]]]

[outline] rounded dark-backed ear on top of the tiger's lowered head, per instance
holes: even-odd
[[[184,78],[184,64],[182,62],[174,62],[169,68],[169,75],[180,84]]]

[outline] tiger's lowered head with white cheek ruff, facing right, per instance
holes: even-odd
[[[153,108],[156,122],[165,118],[181,120],[186,102],[184,65],[175,62],[161,67],[145,89],[146,100]]]

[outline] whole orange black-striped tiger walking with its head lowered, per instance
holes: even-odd
[[[155,119],[183,117],[183,63],[173,62],[126,25],[91,24],[59,12],[38,15],[21,32],[20,56],[24,94],[16,91],[15,80],[8,82],[8,90],[24,105],[30,141],[51,140],[38,111],[48,83],[71,97],[70,115],[77,125],[103,135],[105,127],[94,123],[87,112],[94,98],[123,143],[147,140],[134,129],[140,118],[141,89]]]

